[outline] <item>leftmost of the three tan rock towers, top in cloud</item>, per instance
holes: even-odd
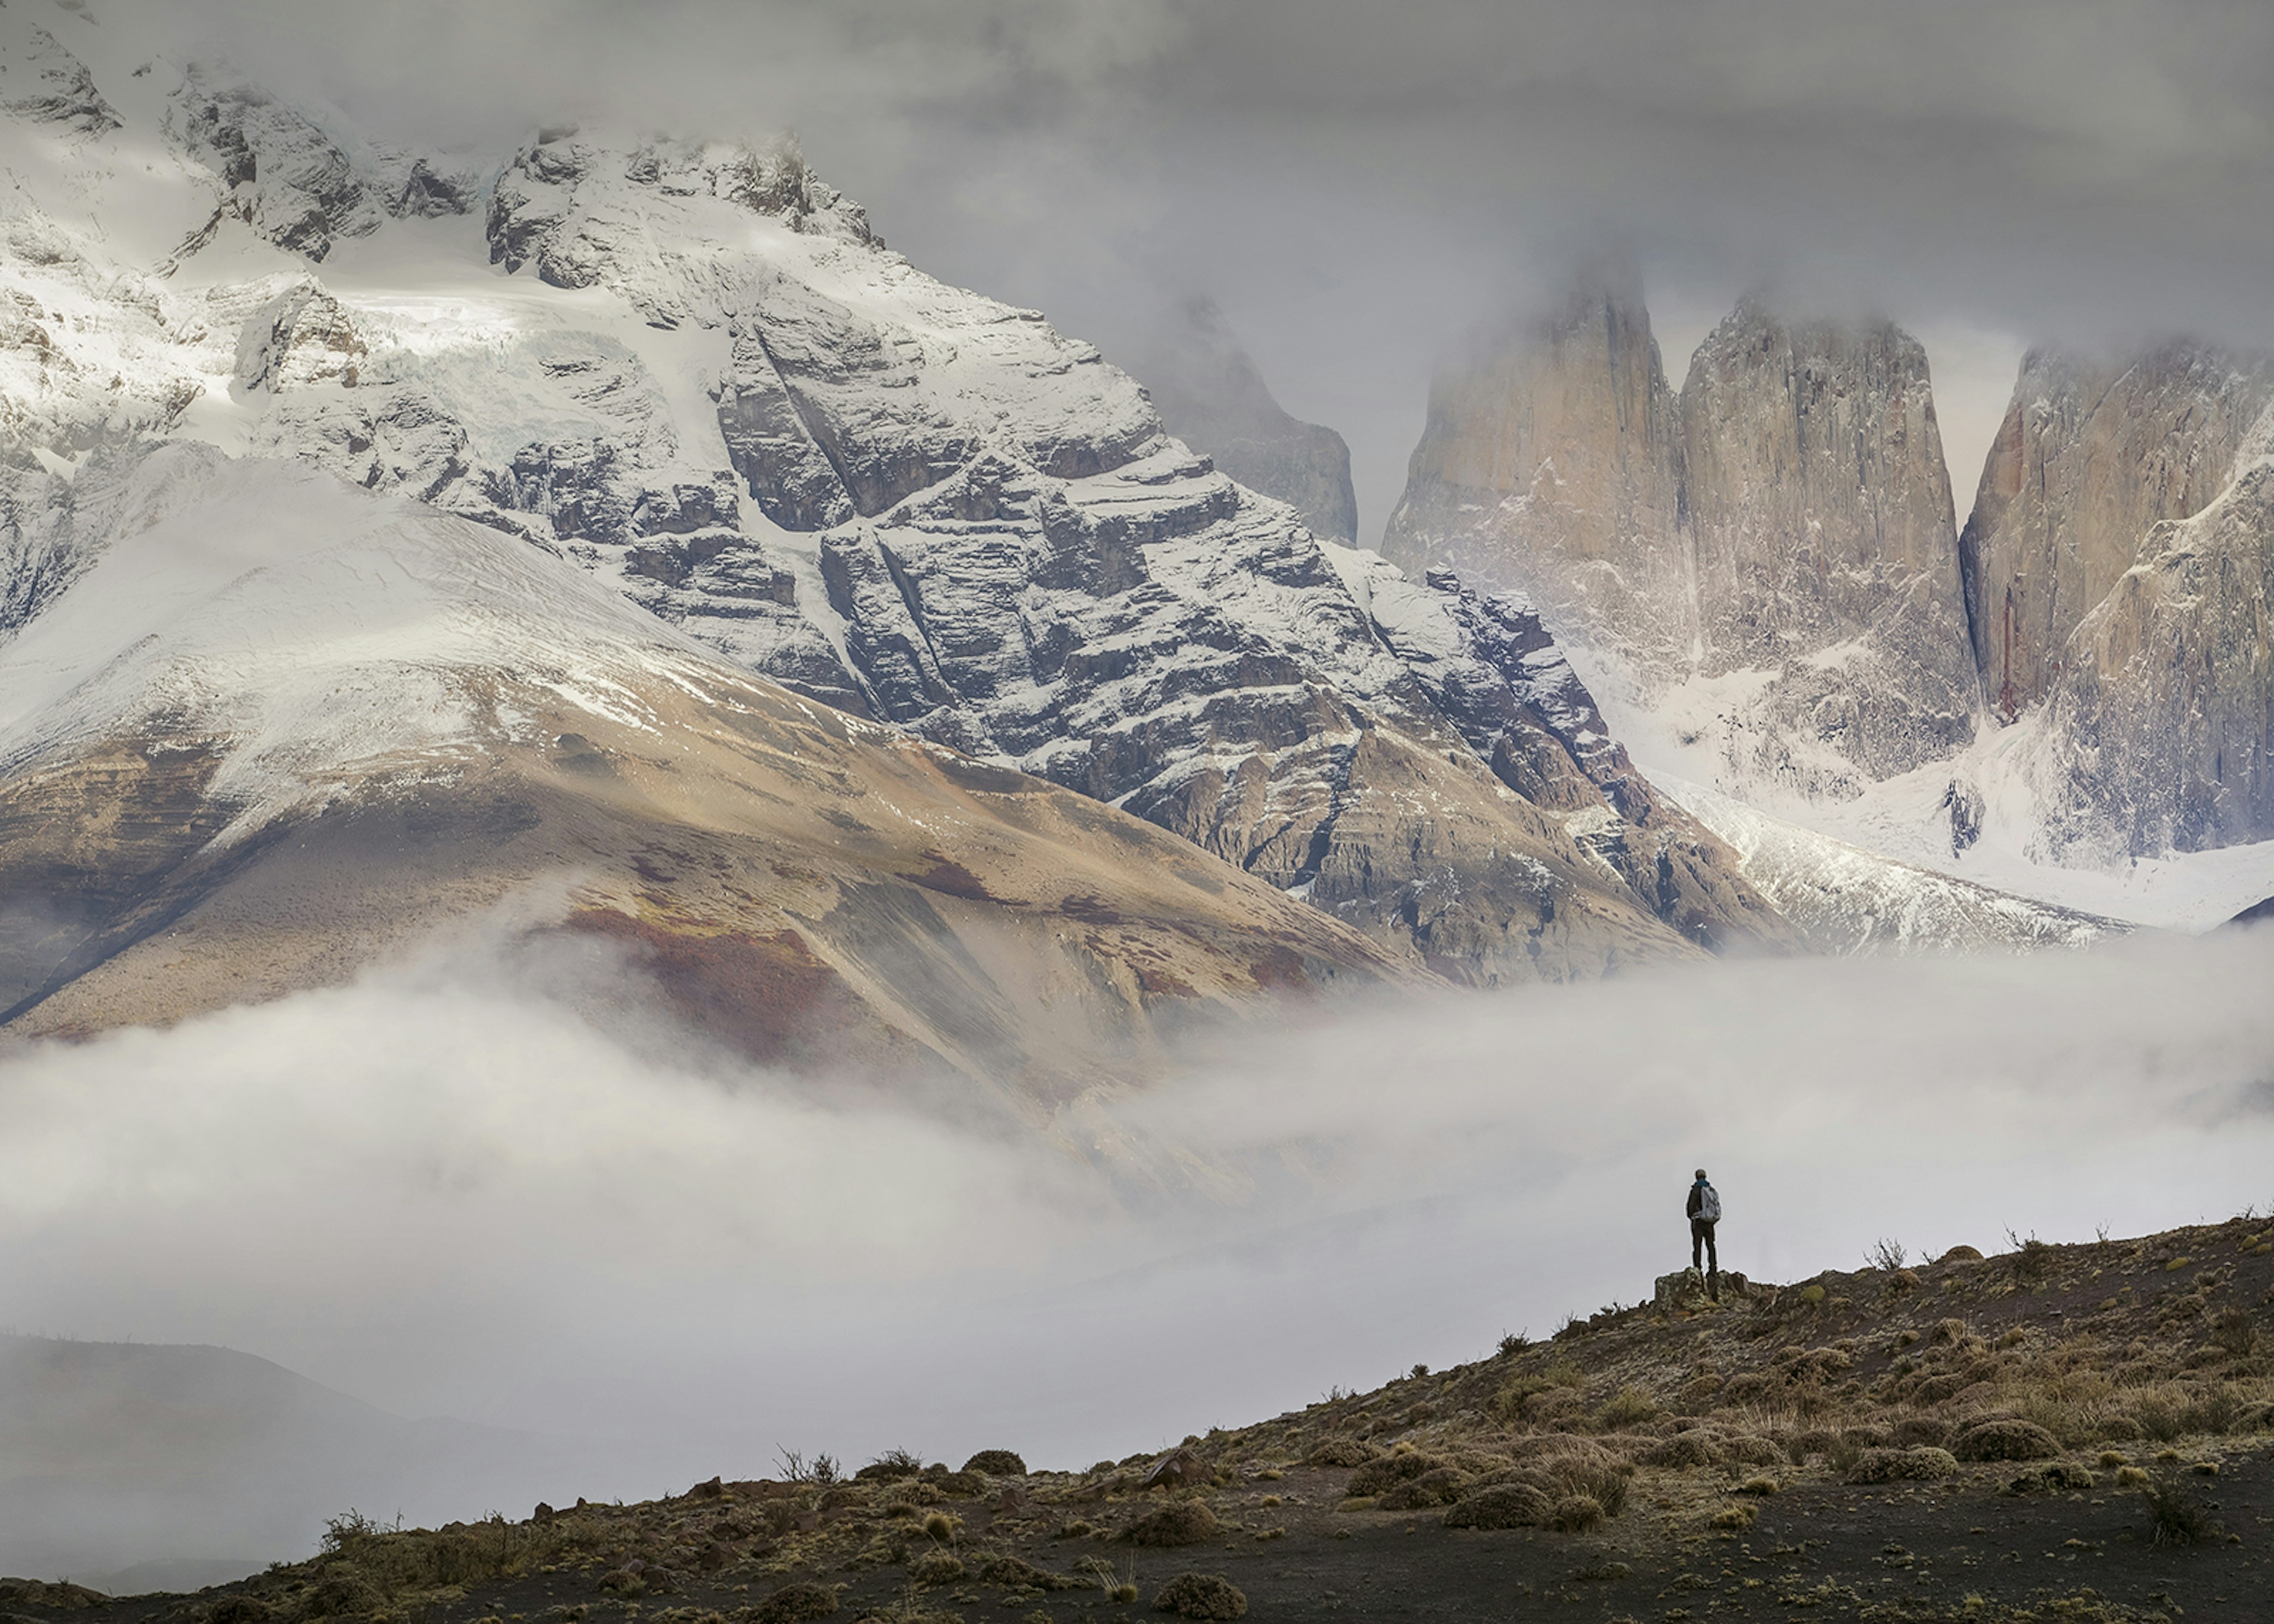
[[[1690,655],[1680,419],[1633,280],[1585,280],[1435,380],[1383,553],[1526,591],[1653,669]]]

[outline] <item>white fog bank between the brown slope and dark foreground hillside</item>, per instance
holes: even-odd
[[[1774,1281],[2274,1201],[2274,933],[1301,1005],[1053,1121],[673,1051],[628,973],[457,944],[9,1055],[11,1328],[600,1440],[518,1488],[609,1499],[775,1447],[1082,1467],[1480,1358],[1687,1262],[1696,1165]]]

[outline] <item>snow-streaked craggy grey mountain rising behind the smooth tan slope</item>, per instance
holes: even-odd
[[[1455,978],[1785,939],[1676,814],[1535,801],[1571,751],[1476,732],[1369,616],[1362,555],[1169,437],[1092,346],[889,252],[794,148],[550,134],[484,193],[257,91],[148,96],[173,275],[75,214],[125,168],[105,136],[75,136],[68,184],[27,146],[5,223],[55,248],[0,264],[36,332],[14,357],[45,346],[7,391],[9,623],[100,555],[77,514],[105,459],[211,437],[518,537],[753,673],[1112,801]],[[400,214],[446,248],[389,246]],[[1412,591],[1458,641],[1458,582]]]

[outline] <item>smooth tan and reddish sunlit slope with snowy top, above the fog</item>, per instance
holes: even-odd
[[[1164,1012],[1396,978],[1157,828],[723,664],[559,560],[198,446],[0,648],[20,1035],[325,985],[448,921],[646,964],[760,1060],[1055,1096]]]

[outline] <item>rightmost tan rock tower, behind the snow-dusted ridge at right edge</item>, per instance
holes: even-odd
[[[2012,721],[2149,530],[2199,514],[2274,400],[2274,362],[2190,343],[2128,359],[2033,350],[1960,537],[1974,660]]]

